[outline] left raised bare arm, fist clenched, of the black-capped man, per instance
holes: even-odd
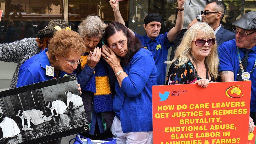
[[[109,3],[110,3],[110,6],[113,8],[115,21],[119,22],[119,23],[121,23],[125,26],[124,19],[122,18],[122,15],[121,15],[120,10],[119,10],[119,2],[116,1],[116,0],[110,0]],[[135,35],[134,32],[131,29],[129,29],[129,30],[133,35]]]

